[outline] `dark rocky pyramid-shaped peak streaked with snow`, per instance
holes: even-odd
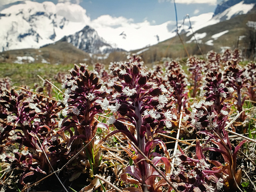
[[[65,36],[60,41],[71,43],[76,48],[87,53],[106,54],[114,51],[114,48],[90,26],[85,26],[82,30],[75,34]]]

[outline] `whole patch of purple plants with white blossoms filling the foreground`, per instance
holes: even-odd
[[[211,51],[188,58],[186,73],[175,60],[152,70],[127,59],[93,71],[75,64],[56,77],[61,89],[0,79],[1,192],[56,181],[81,192],[242,190],[242,172],[255,172],[255,62]]]

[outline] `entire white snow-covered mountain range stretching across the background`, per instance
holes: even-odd
[[[215,13],[191,17],[192,28],[196,32],[235,15],[246,14],[255,4],[255,0],[224,0]],[[123,18],[124,24],[113,27],[108,24],[112,19],[108,17],[90,20],[84,8],[68,2],[16,2],[0,11],[0,51],[39,48],[62,39],[86,52],[106,53],[114,50],[112,47],[140,49],[176,35],[176,22],[171,20],[151,25],[148,21],[125,22]],[[181,29],[188,32],[187,36],[192,34],[188,20]]]

